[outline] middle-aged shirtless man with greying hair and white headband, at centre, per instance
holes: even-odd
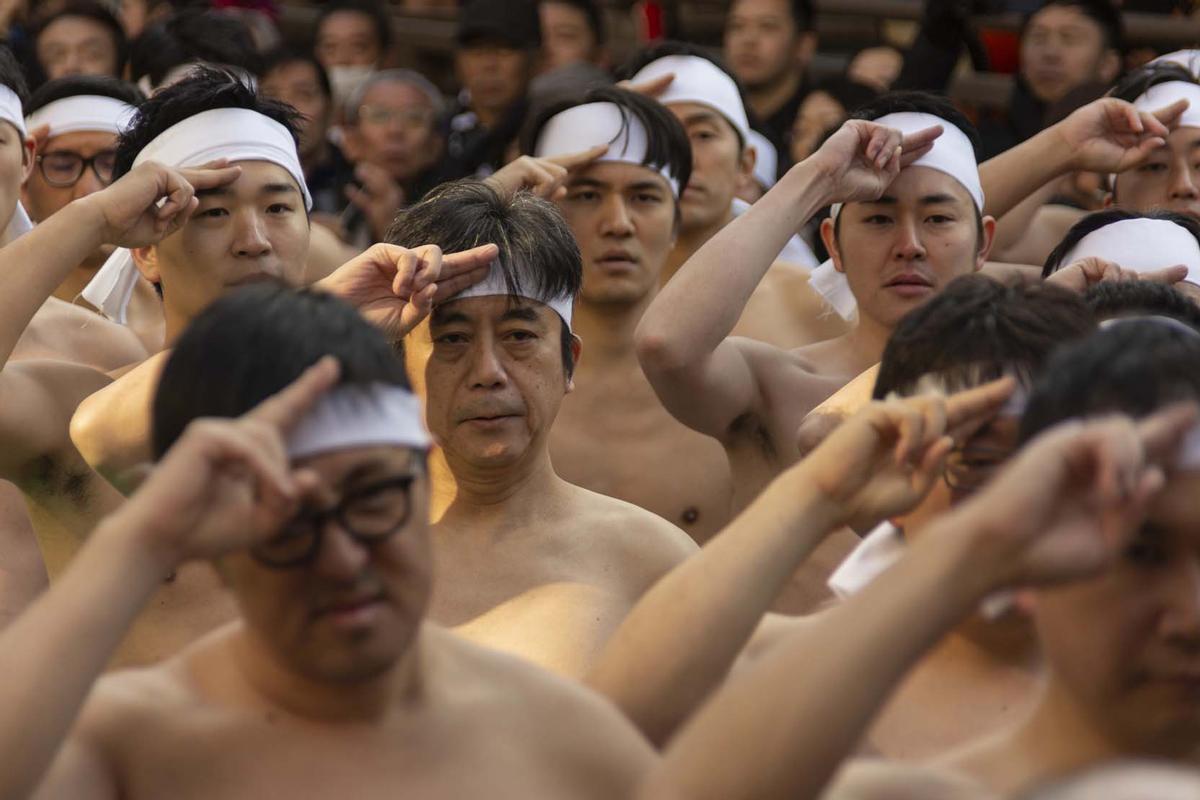
[[[582,278],[571,230],[528,193],[458,182],[402,212],[388,239],[445,252],[500,246],[492,275],[404,342],[438,445],[430,616],[581,676],[637,599],[696,547],[661,517],[572,486],[551,464],[551,426],[581,349],[570,326]]]

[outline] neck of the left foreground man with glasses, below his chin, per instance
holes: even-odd
[[[361,681],[322,681],[286,669],[266,644],[239,625],[228,640],[234,669],[269,705],[312,722],[378,722],[397,702],[424,696],[422,639],[418,628],[408,649],[386,670]]]

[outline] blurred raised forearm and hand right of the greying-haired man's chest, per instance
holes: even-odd
[[[940,474],[947,431],[988,419],[1009,391],[1003,381],[947,402],[920,397],[865,409],[650,589],[588,682],[664,744],[725,676],[821,540],[846,522],[865,525],[916,505]]]

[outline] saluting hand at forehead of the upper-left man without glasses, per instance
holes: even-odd
[[[187,222],[199,204],[196,192],[232,184],[240,174],[241,167],[228,167],[224,161],[196,169],[174,169],[149,161],[78,201],[98,215],[104,243],[146,247]]]

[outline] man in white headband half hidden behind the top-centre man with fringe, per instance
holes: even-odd
[[[688,44],[665,42],[640,53],[623,71],[632,88],[656,97],[676,115],[691,140],[692,169],[679,198],[679,234],[660,284],[733,221],[737,188],[754,180],[755,150],[749,145],[750,125],[738,85],[700,53]],[[738,321],[738,335],[792,348],[845,332],[842,320],[824,313],[821,297],[808,285],[808,271],[816,266],[808,245],[797,237],[785,242],[803,255],[798,263],[780,260],[785,248],[780,243],[761,290]]]

